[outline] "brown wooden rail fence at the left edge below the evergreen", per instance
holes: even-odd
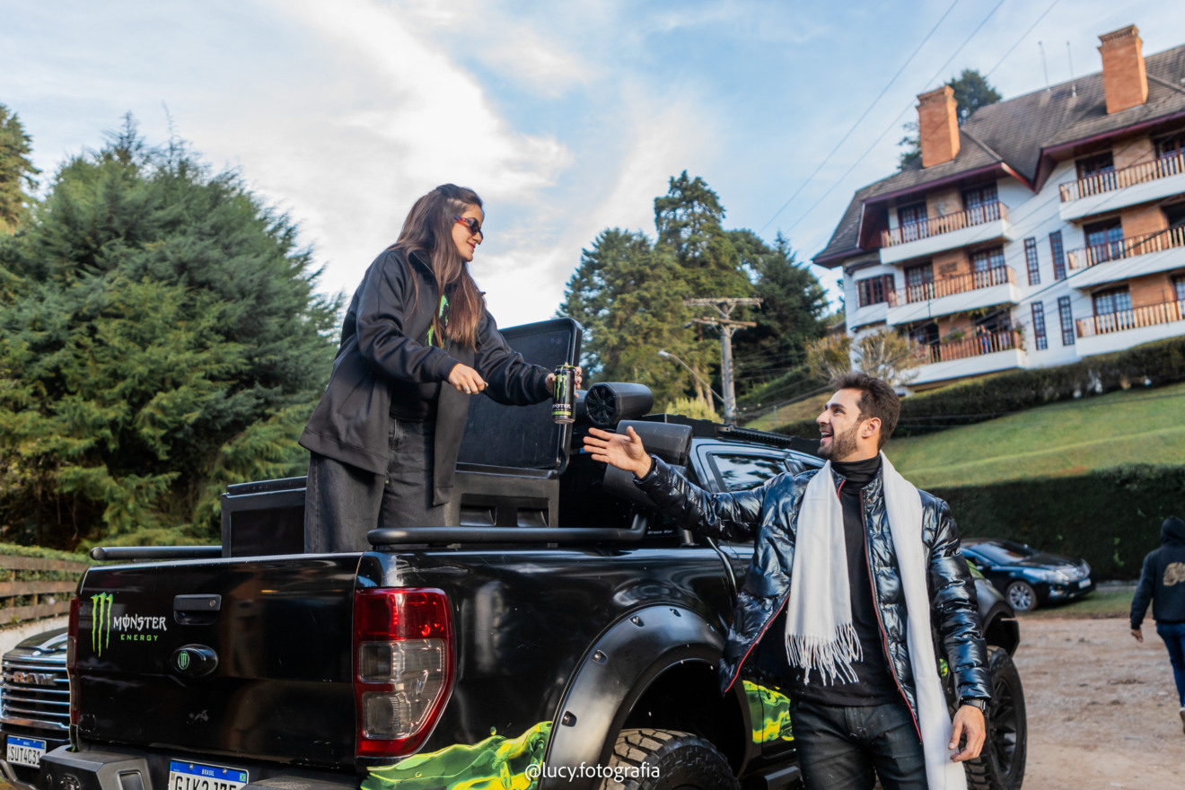
[[[0,554],[0,625],[70,614],[87,563]]]

